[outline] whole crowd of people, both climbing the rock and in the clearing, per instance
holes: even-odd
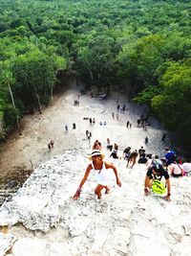
[[[79,97],[77,98],[79,101]],[[124,114],[126,110],[126,105],[119,105],[117,102],[117,113],[112,112],[112,118],[119,120],[119,114]],[[91,147],[91,138],[92,138],[92,128],[96,124],[96,119],[89,117],[85,118],[89,120],[90,129],[86,130],[85,134],[89,141],[89,146]],[[147,126],[151,120],[149,117],[145,117],[143,114],[138,118],[138,128],[143,128],[147,130]],[[99,121],[100,126],[107,126],[106,121]],[[76,126],[73,124],[73,129]],[[126,128],[132,128],[132,124],[128,120],[126,123]],[[65,130],[68,131],[68,125],[65,125]],[[166,133],[163,132],[161,136],[161,142],[166,141]],[[144,139],[145,145],[149,143],[149,138],[146,136]],[[48,144],[49,151],[53,150],[53,140]],[[87,181],[90,173],[94,173],[96,176],[96,189],[95,194],[98,199],[102,197],[102,191],[105,190],[105,194],[110,192],[110,183],[111,183],[111,171],[114,171],[116,176],[117,185],[121,186],[121,181],[118,175],[117,167],[113,163],[113,159],[123,159],[126,163],[126,167],[133,169],[136,164],[144,164],[146,166],[146,173],[144,178],[144,195],[148,196],[150,194],[162,195],[166,200],[171,198],[171,177],[180,177],[183,175],[191,175],[191,163],[184,162],[182,163],[175,153],[175,151],[166,148],[166,152],[159,159],[158,155],[154,153],[147,153],[143,146],[138,150],[132,150],[131,147],[126,147],[125,149],[119,151],[119,146],[117,143],[111,143],[110,139],[107,138],[106,149],[108,151],[108,160],[105,160],[105,153],[103,153],[103,147],[99,140],[96,140],[92,146],[92,153],[89,155],[90,163],[88,164],[85,174],[83,175],[79,186],[74,194],[74,199],[80,197],[81,189],[84,183]],[[114,161],[116,162],[116,160]]]

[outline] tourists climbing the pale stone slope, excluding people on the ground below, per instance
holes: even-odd
[[[114,149],[114,150],[113,150]],[[171,197],[171,184],[170,176],[179,177],[191,174],[191,163],[182,164],[180,159],[177,159],[177,156],[174,151],[171,151],[169,148],[166,148],[164,157],[159,159],[158,155],[146,153],[143,146],[140,149],[131,151],[131,147],[127,147],[121,156],[118,156],[118,145],[115,143],[111,145],[110,139],[107,138],[107,150],[112,151],[110,157],[120,159],[123,158],[127,161],[127,168],[133,168],[136,163],[146,164],[146,175],[144,178],[144,195],[149,196],[150,194],[158,194],[164,196],[165,200],[170,200]],[[115,155],[116,153],[116,155]],[[109,169],[114,171],[116,176],[117,185],[121,186],[121,181],[117,173],[117,167],[113,163],[104,161],[105,154],[102,152],[101,142],[96,140],[92,153],[88,157],[91,161],[85,171],[85,174],[79,183],[79,186],[74,194],[74,199],[80,197],[81,189],[86,182],[88,176],[91,172],[95,173],[96,176],[96,189],[95,194],[98,199],[102,196],[102,191],[105,191],[105,194],[110,192],[110,181],[111,181],[111,172]],[[162,177],[165,182],[161,182]]]

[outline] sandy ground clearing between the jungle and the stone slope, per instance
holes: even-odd
[[[106,100],[91,98],[90,93],[79,96],[79,105],[74,100],[80,94],[80,87],[75,81],[68,81],[65,90],[54,96],[53,105],[45,108],[42,114],[35,113],[25,116],[21,121],[22,135],[12,133],[6,143],[1,144],[0,154],[0,189],[6,186],[15,188],[41,163],[51,159],[53,155],[62,154],[69,149],[90,149],[85,131],[92,131],[94,140],[99,139],[106,146],[106,139],[117,143],[122,152],[126,147],[132,150],[144,146],[148,153],[162,156],[165,145],[161,142],[163,128],[152,118],[147,131],[137,127],[137,120],[143,110],[140,106],[129,103],[123,93],[114,92]],[[125,113],[119,113],[119,120],[112,118],[117,114],[119,105],[126,105]],[[96,118],[96,126],[90,126],[85,118]],[[132,128],[126,128],[127,121]],[[97,126],[99,122],[107,122],[107,126]],[[76,129],[73,129],[73,124]],[[68,125],[68,132],[65,130]],[[149,138],[144,145],[145,137]],[[52,152],[48,151],[48,143],[54,141]]]

